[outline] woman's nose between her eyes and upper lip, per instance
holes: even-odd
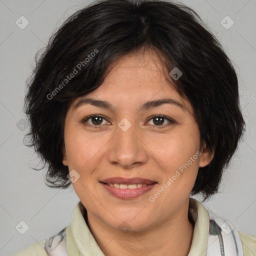
[[[148,148],[141,132],[131,125],[126,131],[116,127],[116,133],[109,141],[107,159],[123,169],[144,164],[148,160]]]

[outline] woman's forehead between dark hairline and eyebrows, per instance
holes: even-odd
[[[75,98],[72,105],[74,107],[83,98],[106,100],[119,106],[127,104],[127,100],[141,105],[149,100],[171,98],[192,112],[190,103],[178,94],[170,79],[166,79],[167,75],[156,52],[131,52],[112,62],[103,83],[92,92]]]

